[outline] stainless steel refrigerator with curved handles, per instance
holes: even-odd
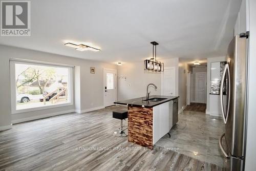
[[[244,170],[248,38],[249,32],[246,32],[236,35],[230,42],[221,79],[220,101],[225,133],[220,137],[219,145],[224,155],[224,170]],[[223,98],[224,82],[227,98]]]

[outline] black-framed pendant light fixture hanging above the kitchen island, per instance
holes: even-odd
[[[150,42],[153,45],[153,56],[150,59],[144,60],[144,70],[153,72],[163,72],[163,63],[157,61],[157,45],[158,42]]]

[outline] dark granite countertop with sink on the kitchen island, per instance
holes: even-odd
[[[177,99],[179,96],[158,96],[158,95],[152,95],[150,96],[150,99],[152,98],[166,98],[162,101],[143,101],[146,99],[146,97],[139,97],[139,98],[134,98],[134,99],[129,99],[129,100],[121,100],[114,102],[115,104],[124,104],[124,105],[129,105],[129,106],[137,106],[137,107],[145,107],[145,108],[152,108],[156,105],[165,103],[170,100]],[[143,98],[143,100],[142,100]]]

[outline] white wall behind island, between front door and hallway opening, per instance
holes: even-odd
[[[178,70],[178,58],[161,60],[164,67],[176,67]],[[118,66],[117,76],[125,76],[125,79],[117,79],[117,100],[145,97],[146,86],[154,83],[157,86],[155,91],[150,87],[151,95],[161,94],[161,73],[144,71],[143,61],[124,63]],[[178,71],[176,71],[176,90],[178,90]]]

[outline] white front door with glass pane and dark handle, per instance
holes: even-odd
[[[104,69],[103,99],[104,106],[114,105],[116,101],[116,70]]]

